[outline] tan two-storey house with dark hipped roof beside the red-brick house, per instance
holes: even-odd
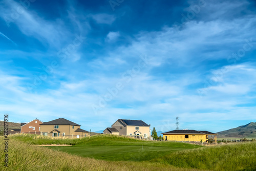
[[[82,138],[89,136],[89,132],[80,129],[80,126],[67,119],[59,118],[40,124],[40,134],[60,138]]]

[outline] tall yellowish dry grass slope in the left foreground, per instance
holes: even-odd
[[[3,137],[0,140],[3,142]],[[83,158],[45,147],[33,146],[15,139],[9,139],[8,148],[8,168],[1,162],[0,170],[196,170],[176,168],[160,163],[108,162]],[[1,149],[2,161],[4,161],[3,152]]]

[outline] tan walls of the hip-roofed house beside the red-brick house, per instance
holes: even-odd
[[[65,138],[76,138],[76,135],[84,135],[86,134],[87,136],[89,136],[89,133],[77,133],[75,132],[78,128],[80,128],[80,126],[74,126],[74,129],[72,129],[72,125],[59,125],[58,129],[54,129],[54,125],[40,125],[41,126],[41,131],[40,134],[42,133],[47,133],[49,132],[48,136],[53,136],[52,133],[50,133],[53,130],[58,130],[60,131],[59,133],[59,137],[63,137],[62,134],[65,133]]]

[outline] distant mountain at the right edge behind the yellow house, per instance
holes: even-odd
[[[256,138],[256,122],[250,122],[246,125],[242,125],[230,130],[218,132],[217,134],[219,136],[224,136],[224,137]]]

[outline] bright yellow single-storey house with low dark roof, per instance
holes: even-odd
[[[214,135],[214,140],[217,141],[217,134],[208,131],[196,130],[174,130],[162,133],[163,138],[167,141],[201,141],[207,142],[208,135]]]

